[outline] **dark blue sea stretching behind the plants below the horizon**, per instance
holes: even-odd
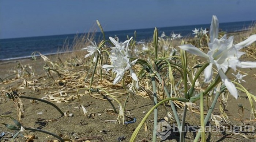
[[[231,22],[231,23],[219,23],[219,28],[225,32],[236,32],[251,26],[255,21],[241,21],[241,22]],[[169,36],[171,33],[180,33],[181,36],[192,36],[192,30],[195,28],[208,28],[210,29],[210,24],[201,25],[187,25],[187,26],[176,26],[176,27],[158,27],[159,36],[162,32]],[[132,30],[122,30],[122,31],[107,31],[105,32],[105,37],[117,36],[119,41],[127,40],[127,35],[129,37],[134,36],[134,31],[136,31],[136,41],[149,41],[153,38],[154,28],[147,29],[132,29]],[[78,36],[84,35],[80,33]],[[0,39],[0,60],[12,60],[12,59],[22,59],[31,56],[31,53],[38,51],[44,55],[56,54],[63,48],[64,42],[69,41],[68,45],[72,45],[74,37],[76,34],[69,35],[52,35],[52,36],[37,36],[28,38],[13,38],[13,39]],[[95,34],[94,39],[102,38],[101,32]],[[96,41],[97,42],[97,41]],[[71,49],[70,49],[71,50]]]

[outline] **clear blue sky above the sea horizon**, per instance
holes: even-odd
[[[256,20],[256,1],[0,1],[0,38]]]

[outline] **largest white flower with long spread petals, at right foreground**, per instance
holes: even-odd
[[[224,35],[221,39],[218,39],[219,34],[219,22],[217,17],[212,16],[212,22],[210,26],[210,43],[208,43],[209,51],[207,54],[199,50],[193,45],[182,45],[179,46],[182,50],[188,51],[192,54],[204,57],[208,59],[210,63],[204,70],[204,82],[210,82],[212,79],[212,65],[217,66],[218,73],[221,77],[222,82],[225,84],[230,94],[235,98],[238,97],[238,92],[236,87],[225,75],[228,67],[236,71],[236,67],[241,68],[255,68],[256,62],[240,62],[239,58],[241,55],[245,54],[239,50],[245,46],[256,41],[256,35],[250,36],[245,41],[233,44],[234,36],[226,38]]]

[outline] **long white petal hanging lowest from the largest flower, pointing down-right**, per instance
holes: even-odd
[[[237,99],[238,92],[236,86],[227,78],[222,70],[219,70],[219,76],[221,76],[221,80],[227,87],[227,90],[229,90],[230,94]]]

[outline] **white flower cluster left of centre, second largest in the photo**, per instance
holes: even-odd
[[[112,71],[116,73],[116,78],[114,79],[113,84],[117,84],[118,82],[120,82],[125,72],[129,70],[132,79],[136,81],[136,87],[139,88],[138,78],[135,72],[133,72],[133,70],[131,69],[131,67],[136,63],[138,59],[130,62],[128,58],[128,45],[132,38],[124,42],[126,43],[126,50],[124,50],[124,43],[118,43],[112,37],[109,37],[109,39],[116,46],[112,47],[112,50],[110,51],[111,54],[109,58],[112,65],[105,64],[102,66],[102,68],[107,69],[107,72],[112,69]]]

